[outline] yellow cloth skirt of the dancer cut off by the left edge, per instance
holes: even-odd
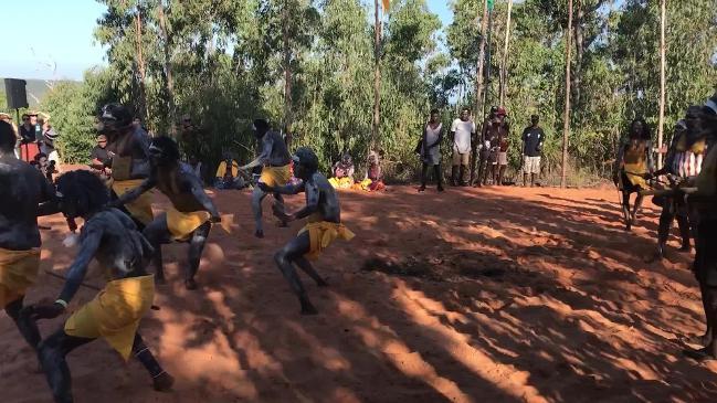
[[[0,247],[0,308],[25,295],[38,279],[40,250],[10,251]]]

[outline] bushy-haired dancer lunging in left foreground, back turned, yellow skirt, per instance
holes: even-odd
[[[76,310],[60,330],[38,347],[38,358],[54,401],[73,401],[65,356],[101,337],[125,360],[133,353],[149,371],[156,390],[169,390],[172,377],[165,372],[137,332],[139,321],[155,296],[152,276],[145,272],[151,246],[127,215],[117,209],[105,208],[109,201],[107,188],[92,172],[63,174],[57,178],[57,192],[65,216],[85,220],[78,238],[80,250],[55,303],[28,306],[21,316],[34,321],[62,315],[94,258],[104,267],[108,282],[95,299]]]

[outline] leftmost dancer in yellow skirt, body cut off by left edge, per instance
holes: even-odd
[[[34,349],[40,332],[34,322],[21,320],[20,310],[40,268],[39,204],[55,192],[38,169],[18,159],[14,147],[12,126],[0,121],[0,308]]]

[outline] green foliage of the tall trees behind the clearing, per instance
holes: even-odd
[[[88,158],[93,116],[108,100],[129,104],[158,134],[172,131],[172,116],[190,115],[201,131],[199,157],[210,168],[225,149],[249,160],[255,148],[250,130],[253,118],[267,117],[275,129],[284,127],[288,65],[292,147],[313,147],[325,170],[344,150],[363,162],[373,106],[372,4],[361,0],[101,2],[108,9],[97,21],[95,36],[107,46],[109,67],[89,72],[83,84],[55,85],[43,103],[62,135],[66,160]],[[424,0],[392,1],[381,25],[377,140],[386,170],[394,178],[414,177],[418,160],[412,151],[432,107],[442,108],[447,127],[456,108],[475,99],[483,2],[454,0],[451,8],[453,22],[444,31],[447,52],[439,46],[441,24]],[[495,3],[487,106],[498,102],[506,11],[506,1]],[[628,120],[644,116],[653,127],[657,121],[657,2],[584,0],[576,2],[574,12],[579,29],[571,50],[571,171],[603,174]],[[717,83],[716,14],[717,0],[667,3],[667,129]],[[559,171],[566,23],[565,1],[514,3],[505,105],[513,127],[514,168],[520,165],[519,134],[529,116],[538,114],[548,136],[544,148],[548,174]],[[165,51],[173,77],[171,92]],[[443,150],[447,155],[450,147]]]

